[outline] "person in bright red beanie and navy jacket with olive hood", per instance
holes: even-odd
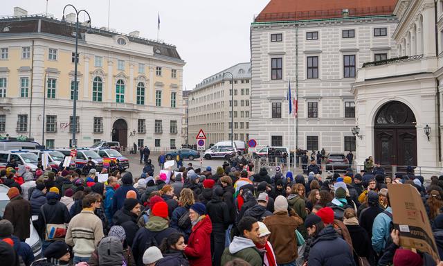
[[[154,199],[154,196],[151,198]],[[150,211],[149,221],[145,227],[138,229],[134,240],[132,241],[132,254],[136,265],[143,265],[143,254],[145,253],[146,243],[151,242],[152,245],[160,245],[165,238],[168,238],[171,233],[178,233],[176,229],[169,226],[168,204],[159,197],[161,201],[156,202]],[[154,244],[152,238],[155,238]]]

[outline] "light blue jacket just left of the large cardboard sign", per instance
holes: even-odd
[[[392,213],[390,207],[386,208],[385,211]],[[378,253],[383,251],[386,247],[386,240],[390,235],[390,222],[391,218],[386,213],[379,213],[372,225],[372,248]]]

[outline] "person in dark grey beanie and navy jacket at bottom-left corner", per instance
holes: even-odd
[[[26,265],[34,260],[33,249],[30,248],[26,242],[21,242],[17,236],[12,235],[14,233],[14,226],[9,220],[0,220],[0,241],[6,241],[14,247],[15,252],[20,256]],[[1,262],[3,263],[3,256],[0,256]],[[1,263],[0,263],[1,265]]]

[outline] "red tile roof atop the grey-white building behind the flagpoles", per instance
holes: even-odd
[[[255,22],[392,15],[397,0],[271,0]]]

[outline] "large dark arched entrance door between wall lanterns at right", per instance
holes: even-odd
[[[404,103],[392,101],[381,107],[375,118],[375,161],[383,166],[417,166],[415,116]]]

